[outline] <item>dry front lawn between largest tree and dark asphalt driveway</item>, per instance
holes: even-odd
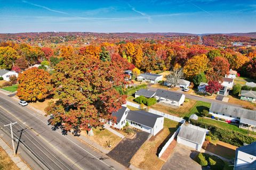
[[[108,150],[115,148],[115,146],[122,140],[122,138],[104,128],[93,129],[93,133],[94,135],[92,137],[90,137],[86,131],[82,131],[81,135],[84,135],[86,138],[89,138],[90,140],[94,141],[102,147],[105,147]],[[109,141],[110,145],[112,146],[111,148],[107,147],[107,142]]]

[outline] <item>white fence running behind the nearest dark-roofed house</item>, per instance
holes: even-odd
[[[129,105],[129,106],[132,106],[132,107],[140,109],[140,105],[139,104],[132,103],[131,101],[126,101],[126,105]],[[170,119],[172,121],[175,121],[175,122],[184,123],[186,121],[182,117],[177,117],[177,116],[169,115],[167,113],[159,112],[159,111],[156,111],[156,110],[151,109],[151,108],[148,109],[148,112],[156,114],[156,115],[159,115],[159,116],[163,116],[163,117],[168,118],[168,119]]]

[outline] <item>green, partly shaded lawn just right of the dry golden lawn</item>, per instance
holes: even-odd
[[[207,103],[204,101],[196,101],[196,104],[194,105],[193,108],[190,109],[189,113],[185,115],[185,119],[188,121],[188,118],[192,114],[199,115],[203,110],[209,111],[211,107],[211,103]]]

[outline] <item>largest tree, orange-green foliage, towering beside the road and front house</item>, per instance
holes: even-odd
[[[125,103],[125,96],[115,89],[125,83],[124,71],[111,62],[86,56],[72,56],[56,66],[52,75],[56,103],[46,113],[49,122],[63,131],[91,131],[102,126]]]

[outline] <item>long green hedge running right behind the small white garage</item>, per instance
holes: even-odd
[[[190,119],[190,123],[201,128],[210,130],[209,135],[212,140],[220,140],[222,142],[226,142],[237,147],[243,146],[244,143],[250,144],[256,141],[256,138],[249,137],[246,134],[218,128],[217,126],[206,124],[204,122]]]

